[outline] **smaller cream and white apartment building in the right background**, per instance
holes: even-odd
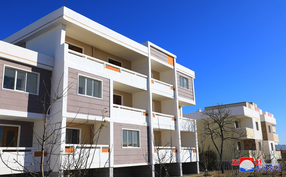
[[[243,156],[254,157],[252,155],[255,154],[256,157],[254,158],[265,159],[267,162],[271,160],[272,163],[277,163],[277,159],[281,158],[281,153],[275,150],[275,144],[278,144],[279,139],[277,134],[273,134],[276,132],[276,119],[273,114],[263,112],[253,102],[239,102],[222,106],[230,109],[231,114],[235,115],[233,127],[242,129],[241,132],[246,135],[237,141],[237,150],[241,151]],[[211,107],[205,107],[204,109],[210,110]],[[186,118],[196,119],[198,139],[200,139],[203,127],[202,115],[201,110],[183,114]],[[199,143],[198,146],[202,146],[202,144]],[[214,145],[210,143],[210,147],[214,148]],[[231,152],[228,150],[229,146],[225,146],[225,161],[231,160],[231,154],[229,154]]]

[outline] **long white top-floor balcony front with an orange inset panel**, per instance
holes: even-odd
[[[112,65],[108,62],[68,50],[68,62],[74,65],[80,65],[86,69],[94,69],[100,73],[113,76],[114,81],[138,89],[138,92],[147,90],[147,76],[134,71]]]

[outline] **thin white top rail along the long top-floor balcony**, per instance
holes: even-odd
[[[134,71],[130,71],[130,70],[128,70],[128,69],[125,69],[125,68],[122,68],[122,67],[113,65],[113,64],[111,64],[111,63],[108,63],[108,62],[105,62],[105,61],[96,59],[96,58],[94,58],[94,57],[90,57],[90,56],[88,56],[88,55],[84,55],[84,54],[82,54],[82,53],[78,53],[78,52],[76,52],[76,51],[72,51],[72,50],[70,50],[70,49],[68,50],[68,52],[69,52],[69,53],[72,53],[72,54],[75,54],[75,55],[78,55],[78,56],[80,56],[80,57],[83,57],[83,58],[85,58],[85,59],[89,59],[89,60],[96,61],[96,62],[98,62],[98,63],[104,64],[104,68],[106,68],[106,65],[107,65],[107,66],[111,66],[111,67],[113,67],[113,68],[119,69],[119,70],[120,70],[120,73],[121,73],[121,71],[125,71],[125,72],[127,72],[127,73],[131,73],[131,74],[136,75],[136,76],[140,76],[140,77],[143,77],[143,78],[148,78],[148,76],[146,76],[146,75],[142,75],[142,74],[140,74],[140,73],[136,73],[136,72],[134,72]]]

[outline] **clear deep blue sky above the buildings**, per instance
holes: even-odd
[[[3,1],[0,39],[64,5]],[[195,71],[194,112],[223,102],[255,102],[274,114],[286,143],[286,1],[74,1],[66,7],[139,43],[150,41]]]

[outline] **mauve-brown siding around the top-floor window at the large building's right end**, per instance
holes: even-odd
[[[180,76],[179,75],[182,75],[183,77],[189,78],[189,90],[180,87]],[[183,97],[183,98],[187,98],[189,100],[194,100],[192,77],[187,76],[187,75],[177,71],[177,85],[178,85],[178,96]]]

